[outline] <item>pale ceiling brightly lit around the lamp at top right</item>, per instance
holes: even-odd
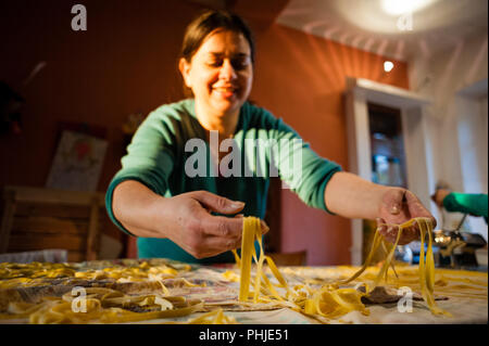
[[[487,0],[290,0],[276,23],[409,61],[487,35]]]

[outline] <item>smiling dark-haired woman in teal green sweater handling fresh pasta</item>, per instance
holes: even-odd
[[[106,192],[109,215],[138,236],[139,257],[231,261],[242,220],[229,216],[264,217],[274,167],[304,203],[327,213],[388,223],[425,216],[436,222],[411,192],[342,171],[280,119],[247,102],[253,64],[253,39],[238,16],[211,11],[187,28],[179,71],[193,97],[148,116]],[[196,168],[202,153],[204,165]],[[300,161],[290,165],[292,157]],[[264,222],[262,230],[267,231]],[[394,228],[381,232],[396,239]],[[400,243],[417,236],[411,228]]]

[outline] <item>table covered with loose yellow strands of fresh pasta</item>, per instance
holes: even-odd
[[[380,267],[346,285],[359,267],[280,267],[280,281],[253,300],[239,299],[238,266],[195,266],[166,259],[82,264],[0,264],[1,323],[487,323],[487,273],[435,270],[432,313],[417,266],[397,266],[387,282],[362,293]],[[251,266],[251,277],[256,265]],[[397,277],[396,277],[397,274]],[[325,290],[324,287],[329,287]],[[343,290],[343,291],[341,291]],[[289,293],[288,293],[289,291]],[[276,298],[274,295],[281,297]],[[318,297],[316,297],[318,296]],[[358,297],[361,297],[358,299]],[[302,300],[301,300],[302,297]],[[317,303],[318,310],[309,305]]]

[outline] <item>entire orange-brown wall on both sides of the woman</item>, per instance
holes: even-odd
[[[71,8],[83,3],[88,30],[71,29]],[[57,148],[58,121],[108,129],[103,191],[124,154],[121,126],[183,97],[176,56],[186,24],[200,8],[178,0],[1,1],[0,79],[21,91],[23,133],[0,136],[0,185],[43,185]],[[283,117],[319,155],[348,168],[341,94],[344,77],[408,88],[406,65],[390,74],[383,59],[279,25],[255,33],[258,56],[251,98]],[[47,66],[25,89],[39,62]],[[350,260],[350,222],[304,206],[283,192],[283,246],[306,248],[310,265]],[[108,230],[118,238],[115,229]]]

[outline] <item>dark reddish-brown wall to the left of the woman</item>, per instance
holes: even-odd
[[[72,7],[87,9],[87,30],[73,31]],[[0,1],[0,79],[26,99],[23,133],[0,136],[0,185],[46,183],[57,124],[108,130],[103,191],[125,153],[122,124],[183,97],[176,59],[186,24],[200,8],[183,1]],[[46,67],[26,87],[39,61]],[[122,239],[115,226],[105,230]]]

